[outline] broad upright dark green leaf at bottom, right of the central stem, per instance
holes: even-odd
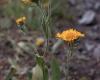
[[[52,70],[52,79],[51,80],[60,80],[60,68],[58,61],[53,58],[51,61],[51,70]]]

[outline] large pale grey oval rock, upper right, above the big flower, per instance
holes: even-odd
[[[92,10],[86,11],[82,18],[78,21],[79,24],[88,25],[91,24],[96,17],[96,13]]]

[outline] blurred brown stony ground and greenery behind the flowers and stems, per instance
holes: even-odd
[[[45,10],[46,4],[44,2]],[[100,0],[53,0],[51,12],[53,37],[49,41],[50,50],[56,44],[56,32],[75,28],[85,33],[72,61],[70,80],[100,80]],[[45,45],[40,14],[37,8],[24,5],[20,0],[0,0],[0,80],[4,80],[16,61],[20,74],[16,75],[16,80],[27,80],[26,71],[35,65],[31,45],[37,44],[40,55]],[[27,34],[21,33],[16,25],[16,19],[22,16],[27,17]],[[43,43],[38,43],[41,40]],[[65,80],[63,48],[61,44],[54,51],[61,65],[61,80]],[[46,60],[49,65],[49,54]]]

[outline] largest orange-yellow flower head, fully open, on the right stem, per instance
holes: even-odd
[[[75,29],[68,29],[62,33],[57,33],[56,37],[67,42],[73,42],[80,37],[84,37],[84,34]]]

